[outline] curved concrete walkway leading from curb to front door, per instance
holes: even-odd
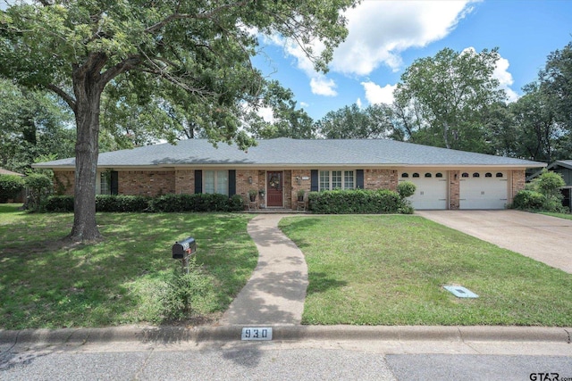
[[[299,325],[307,289],[304,254],[278,228],[283,214],[248,223],[258,249],[257,268],[221,319],[223,325]]]

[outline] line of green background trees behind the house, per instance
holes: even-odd
[[[538,78],[512,103],[493,78],[499,59],[497,49],[445,48],[405,70],[393,104],[351,104],[320,120],[274,84],[266,99],[273,121],[252,110],[244,114],[245,126],[256,138],[391,138],[539,162],[572,158],[572,42],[547,57]],[[208,136],[181,105],[166,105],[159,117],[136,100],[118,102],[128,96],[135,95],[111,91],[102,101],[102,152],[156,143],[161,134],[146,123],[161,118],[179,126],[172,128],[175,140]],[[73,116],[54,95],[0,80],[0,97],[1,167],[26,172],[33,162],[73,156]]]

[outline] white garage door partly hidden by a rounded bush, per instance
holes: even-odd
[[[411,171],[400,174],[400,181],[416,185],[415,195],[409,197],[417,210],[447,209],[447,172]]]

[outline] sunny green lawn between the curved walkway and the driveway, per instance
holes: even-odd
[[[419,216],[280,227],[307,259],[304,324],[572,326],[572,275]],[[479,298],[458,299],[447,285]]]

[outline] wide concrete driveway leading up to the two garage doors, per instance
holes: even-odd
[[[526,211],[416,211],[470,236],[572,274],[572,220]]]

